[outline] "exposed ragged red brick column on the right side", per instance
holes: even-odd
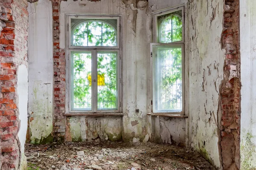
[[[225,49],[221,85],[221,159],[224,170],[240,169],[240,42],[239,0],[225,0],[222,47]]]

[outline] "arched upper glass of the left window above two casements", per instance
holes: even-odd
[[[73,46],[116,46],[116,28],[104,20],[86,20],[72,30]]]

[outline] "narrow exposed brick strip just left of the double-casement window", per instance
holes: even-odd
[[[58,143],[64,142],[66,132],[66,60],[65,50],[60,48],[60,15],[61,0],[52,0],[52,19],[53,19],[53,70],[54,70],[54,132]]]

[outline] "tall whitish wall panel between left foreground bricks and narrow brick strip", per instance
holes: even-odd
[[[29,113],[31,142],[52,133],[52,3],[29,3]]]

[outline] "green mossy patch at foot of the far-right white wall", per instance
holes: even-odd
[[[247,133],[241,141],[241,170],[256,170],[256,146],[252,142],[253,137]]]

